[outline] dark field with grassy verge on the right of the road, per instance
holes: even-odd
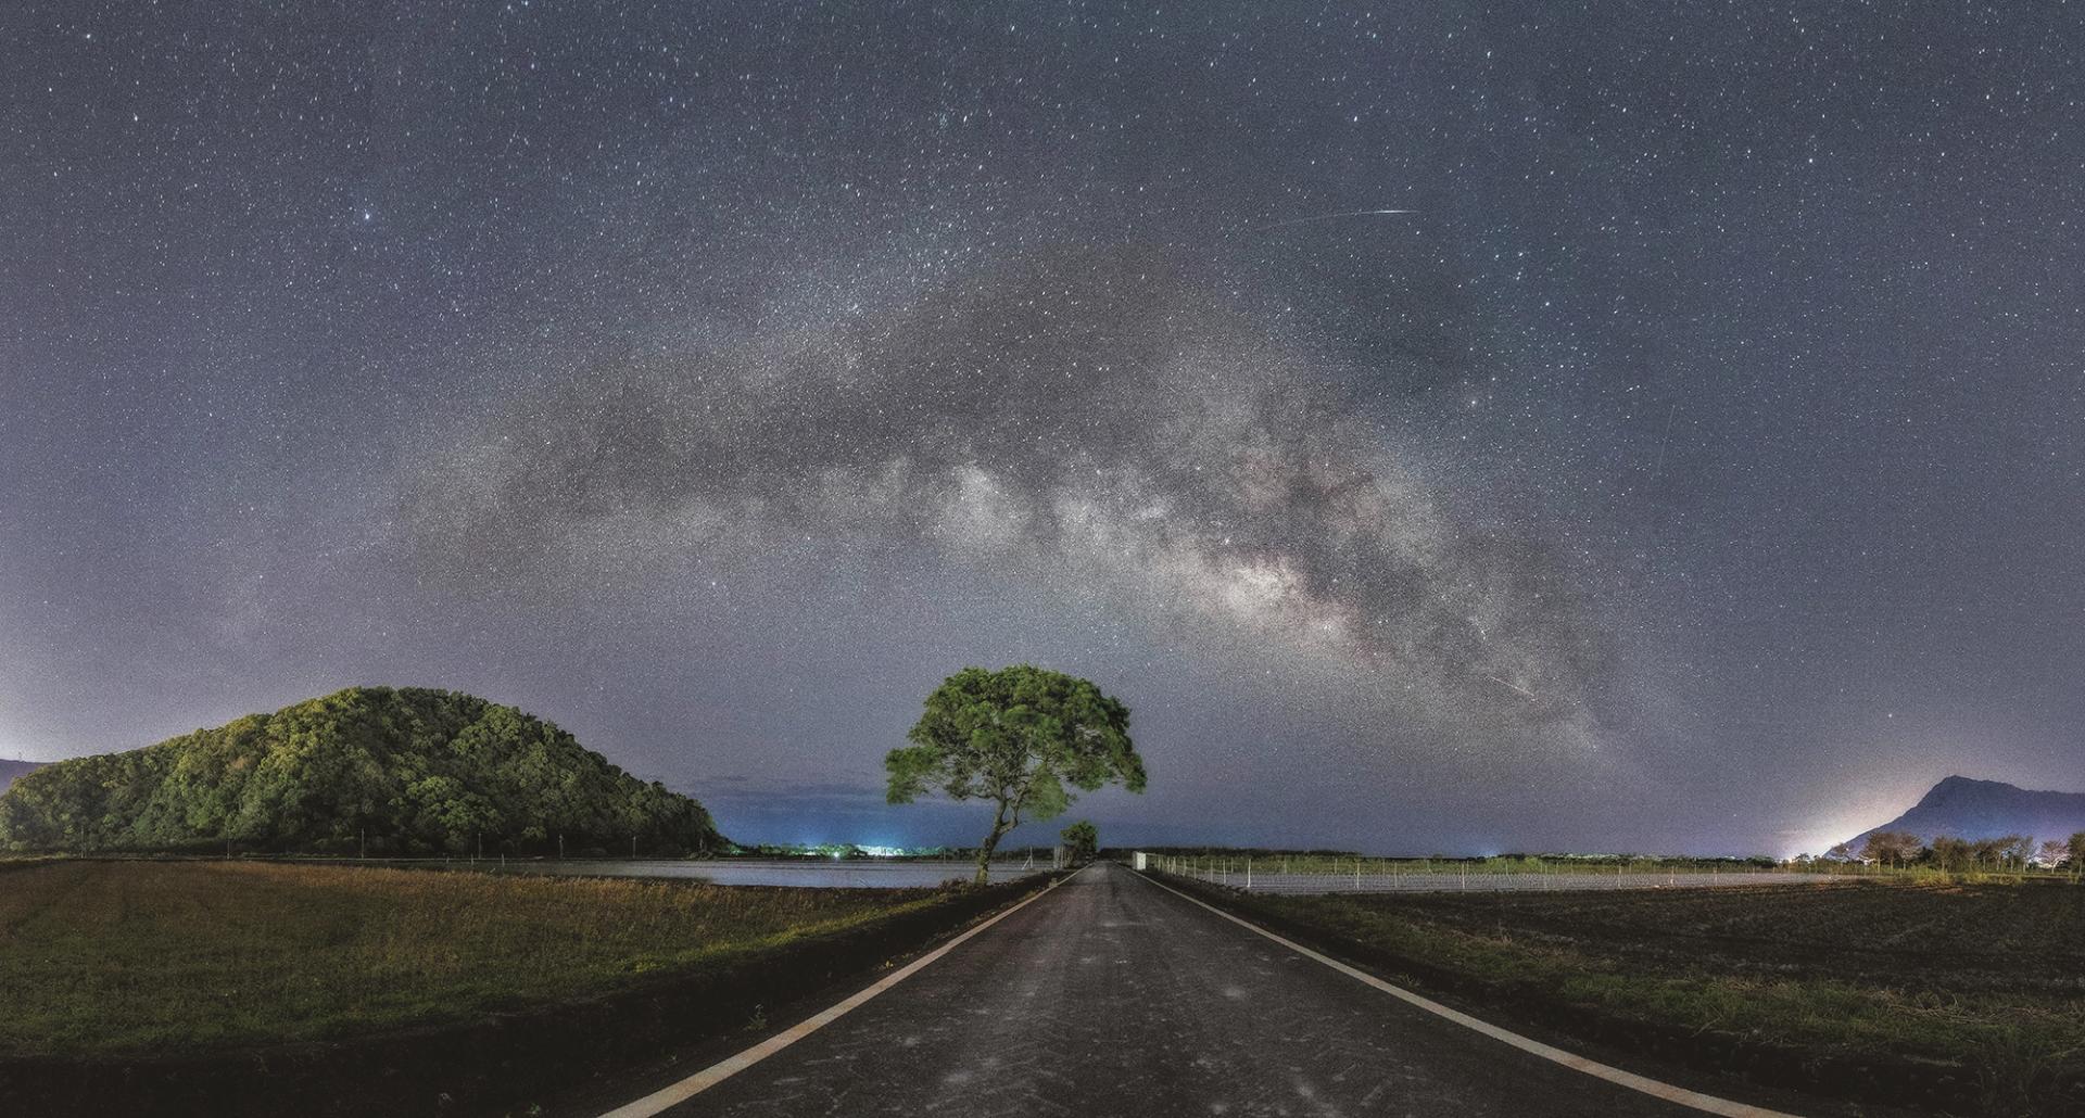
[[[1991,1114],[2085,1074],[2085,889],[2035,884],[1253,897],[1505,1001],[1954,1064]]]

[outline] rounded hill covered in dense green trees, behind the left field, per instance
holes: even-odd
[[[0,849],[354,853],[717,849],[701,803],[513,707],[348,688],[129,753],[58,761],[0,795]]]

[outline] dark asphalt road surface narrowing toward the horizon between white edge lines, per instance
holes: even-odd
[[[1697,1114],[1405,1005],[1097,864],[669,1114]]]

